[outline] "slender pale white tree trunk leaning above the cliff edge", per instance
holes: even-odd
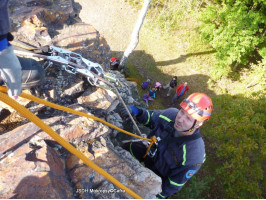
[[[131,34],[130,44],[127,47],[126,51],[124,52],[124,55],[121,59],[120,65],[119,65],[119,69],[121,69],[121,70],[123,70],[125,68],[129,55],[132,53],[132,51],[136,48],[136,46],[139,43],[139,31],[140,31],[140,28],[143,24],[145,16],[147,14],[150,3],[151,3],[151,0],[145,0],[143,5],[142,5],[141,11],[140,11],[139,16],[138,16],[137,23],[134,27],[132,34]]]

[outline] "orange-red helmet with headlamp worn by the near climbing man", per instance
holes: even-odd
[[[191,117],[200,122],[208,120],[213,109],[211,98],[203,93],[193,93],[189,95],[180,106]]]

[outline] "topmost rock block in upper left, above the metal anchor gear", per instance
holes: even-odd
[[[51,42],[49,31],[54,32],[76,15],[71,0],[10,0],[9,5],[14,35],[35,46]],[[48,26],[52,30],[48,30]]]

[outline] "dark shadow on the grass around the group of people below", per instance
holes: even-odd
[[[205,52],[198,52],[198,53],[190,53],[185,55],[186,56],[196,56],[196,55],[203,55],[203,54],[209,54],[213,53],[214,51],[205,51]],[[122,52],[113,51],[111,52],[113,56],[120,56],[122,55]],[[118,57],[119,58],[119,57]],[[130,78],[136,78],[139,80],[140,83],[147,80],[148,78],[151,80],[150,85],[148,89],[151,89],[155,87],[156,82],[160,82],[162,85],[167,85],[172,80],[173,76],[169,74],[165,74],[161,69],[159,69],[158,65],[171,65],[176,64],[178,62],[181,62],[181,57],[169,60],[169,61],[161,61],[161,62],[155,62],[155,59],[152,55],[147,54],[145,51],[133,51],[130,55],[127,63],[128,73],[126,73],[126,76]],[[185,61],[185,60],[184,60]],[[188,82],[189,91],[181,97],[174,105],[177,106],[184,97],[188,96],[191,93],[194,92],[203,92],[208,94],[210,97],[214,96],[213,91],[208,89],[208,81],[210,77],[202,74],[193,74],[191,76],[182,76],[181,74],[176,71],[177,76],[177,82],[178,85],[183,82]],[[139,95],[142,96],[144,93],[146,93],[146,90],[142,90],[139,86]],[[176,88],[175,88],[176,89]],[[166,94],[168,92],[167,89],[162,89],[161,91],[156,93],[156,99],[154,102],[151,102],[151,105],[149,108],[153,109],[162,109],[169,107],[169,104],[175,94],[175,89],[172,91],[172,94],[170,97],[167,97]],[[162,104],[162,105],[160,105]]]

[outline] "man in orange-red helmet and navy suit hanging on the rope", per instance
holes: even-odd
[[[213,104],[203,93],[193,93],[181,104],[181,109],[146,110],[128,106],[138,122],[151,128],[148,138],[157,143],[148,155],[142,142],[124,144],[134,158],[162,178],[162,191],[156,198],[164,199],[180,191],[205,161],[205,146],[199,128],[210,118]],[[125,119],[127,113],[122,111]]]

